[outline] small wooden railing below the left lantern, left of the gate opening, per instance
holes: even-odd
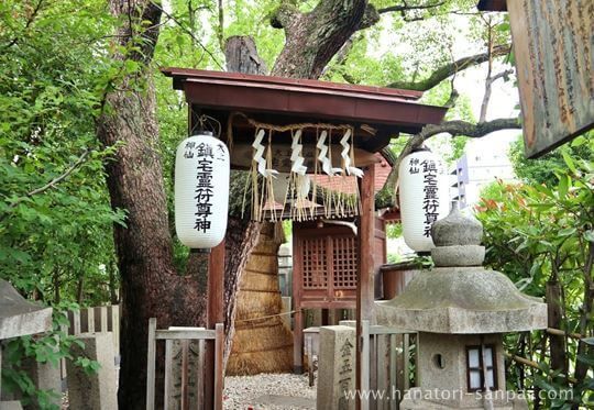
[[[215,341],[215,370],[212,375],[207,375],[207,377],[213,378],[213,386],[215,386],[215,397],[213,397],[213,403],[216,410],[222,410],[222,392],[223,392],[223,342],[224,342],[224,331],[223,331],[223,324],[217,323],[215,326],[215,330],[205,330],[201,328],[170,328],[168,330],[157,330],[156,329],[156,319],[152,318],[148,321],[148,353],[147,353],[147,364],[146,364],[146,410],[154,410],[155,408],[155,361],[156,361],[156,342],[160,340],[165,341],[165,387],[164,387],[164,397],[165,397],[165,409],[168,409],[170,403],[167,402],[168,398],[170,397],[169,388],[172,384],[169,383],[169,378],[173,377],[172,374],[172,361],[173,361],[173,343],[174,341],[182,341],[182,350],[183,350],[183,356],[184,352],[186,352],[187,355],[187,346],[188,344],[185,342],[189,341]],[[202,346],[199,348],[202,354],[200,356],[204,357],[204,343],[200,343]],[[200,377],[204,373],[204,359],[200,357],[198,363],[198,368],[196,369],[196,375]],[[184,361],[183,361],[184,362]],[[180,408],[182,409],[189,409],[189,400],[185,392],[188,391],[188,375],[189,375],[189,368],[187,366],[187,361],[185,362],[186,365],[182,366],[182,402]],[[201,385],[205,383],[205,380],[199,380],[197,385],[201,387]],[[197,402],[197,408],[202,409],[204,408],[204,397],[199,396]]]

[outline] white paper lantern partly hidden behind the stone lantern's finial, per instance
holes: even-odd
[[[407,155],[398,168],[400,219],[406,244],[417,252],[429,252],[432,224],[449,213],[446,167],[436,154],[420,149]]]

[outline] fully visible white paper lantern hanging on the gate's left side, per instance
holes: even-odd
[[[175,231],[191,248],[217,246],[229,209],[229,149],[206,132],[184,140],[175,157]]]

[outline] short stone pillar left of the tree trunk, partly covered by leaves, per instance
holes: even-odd
[[[78,339],[85,343],[85,347],[73,344],[73,357],[84,356],[97,361],[101,368],[87,375],[73,361],[66,362],[70,410],[118,409],[112,334],[82,333]]]

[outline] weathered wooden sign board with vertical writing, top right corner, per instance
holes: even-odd
[[[594,1],[507,0],[507,10],[525,154],[537,158],[594,126]]]

